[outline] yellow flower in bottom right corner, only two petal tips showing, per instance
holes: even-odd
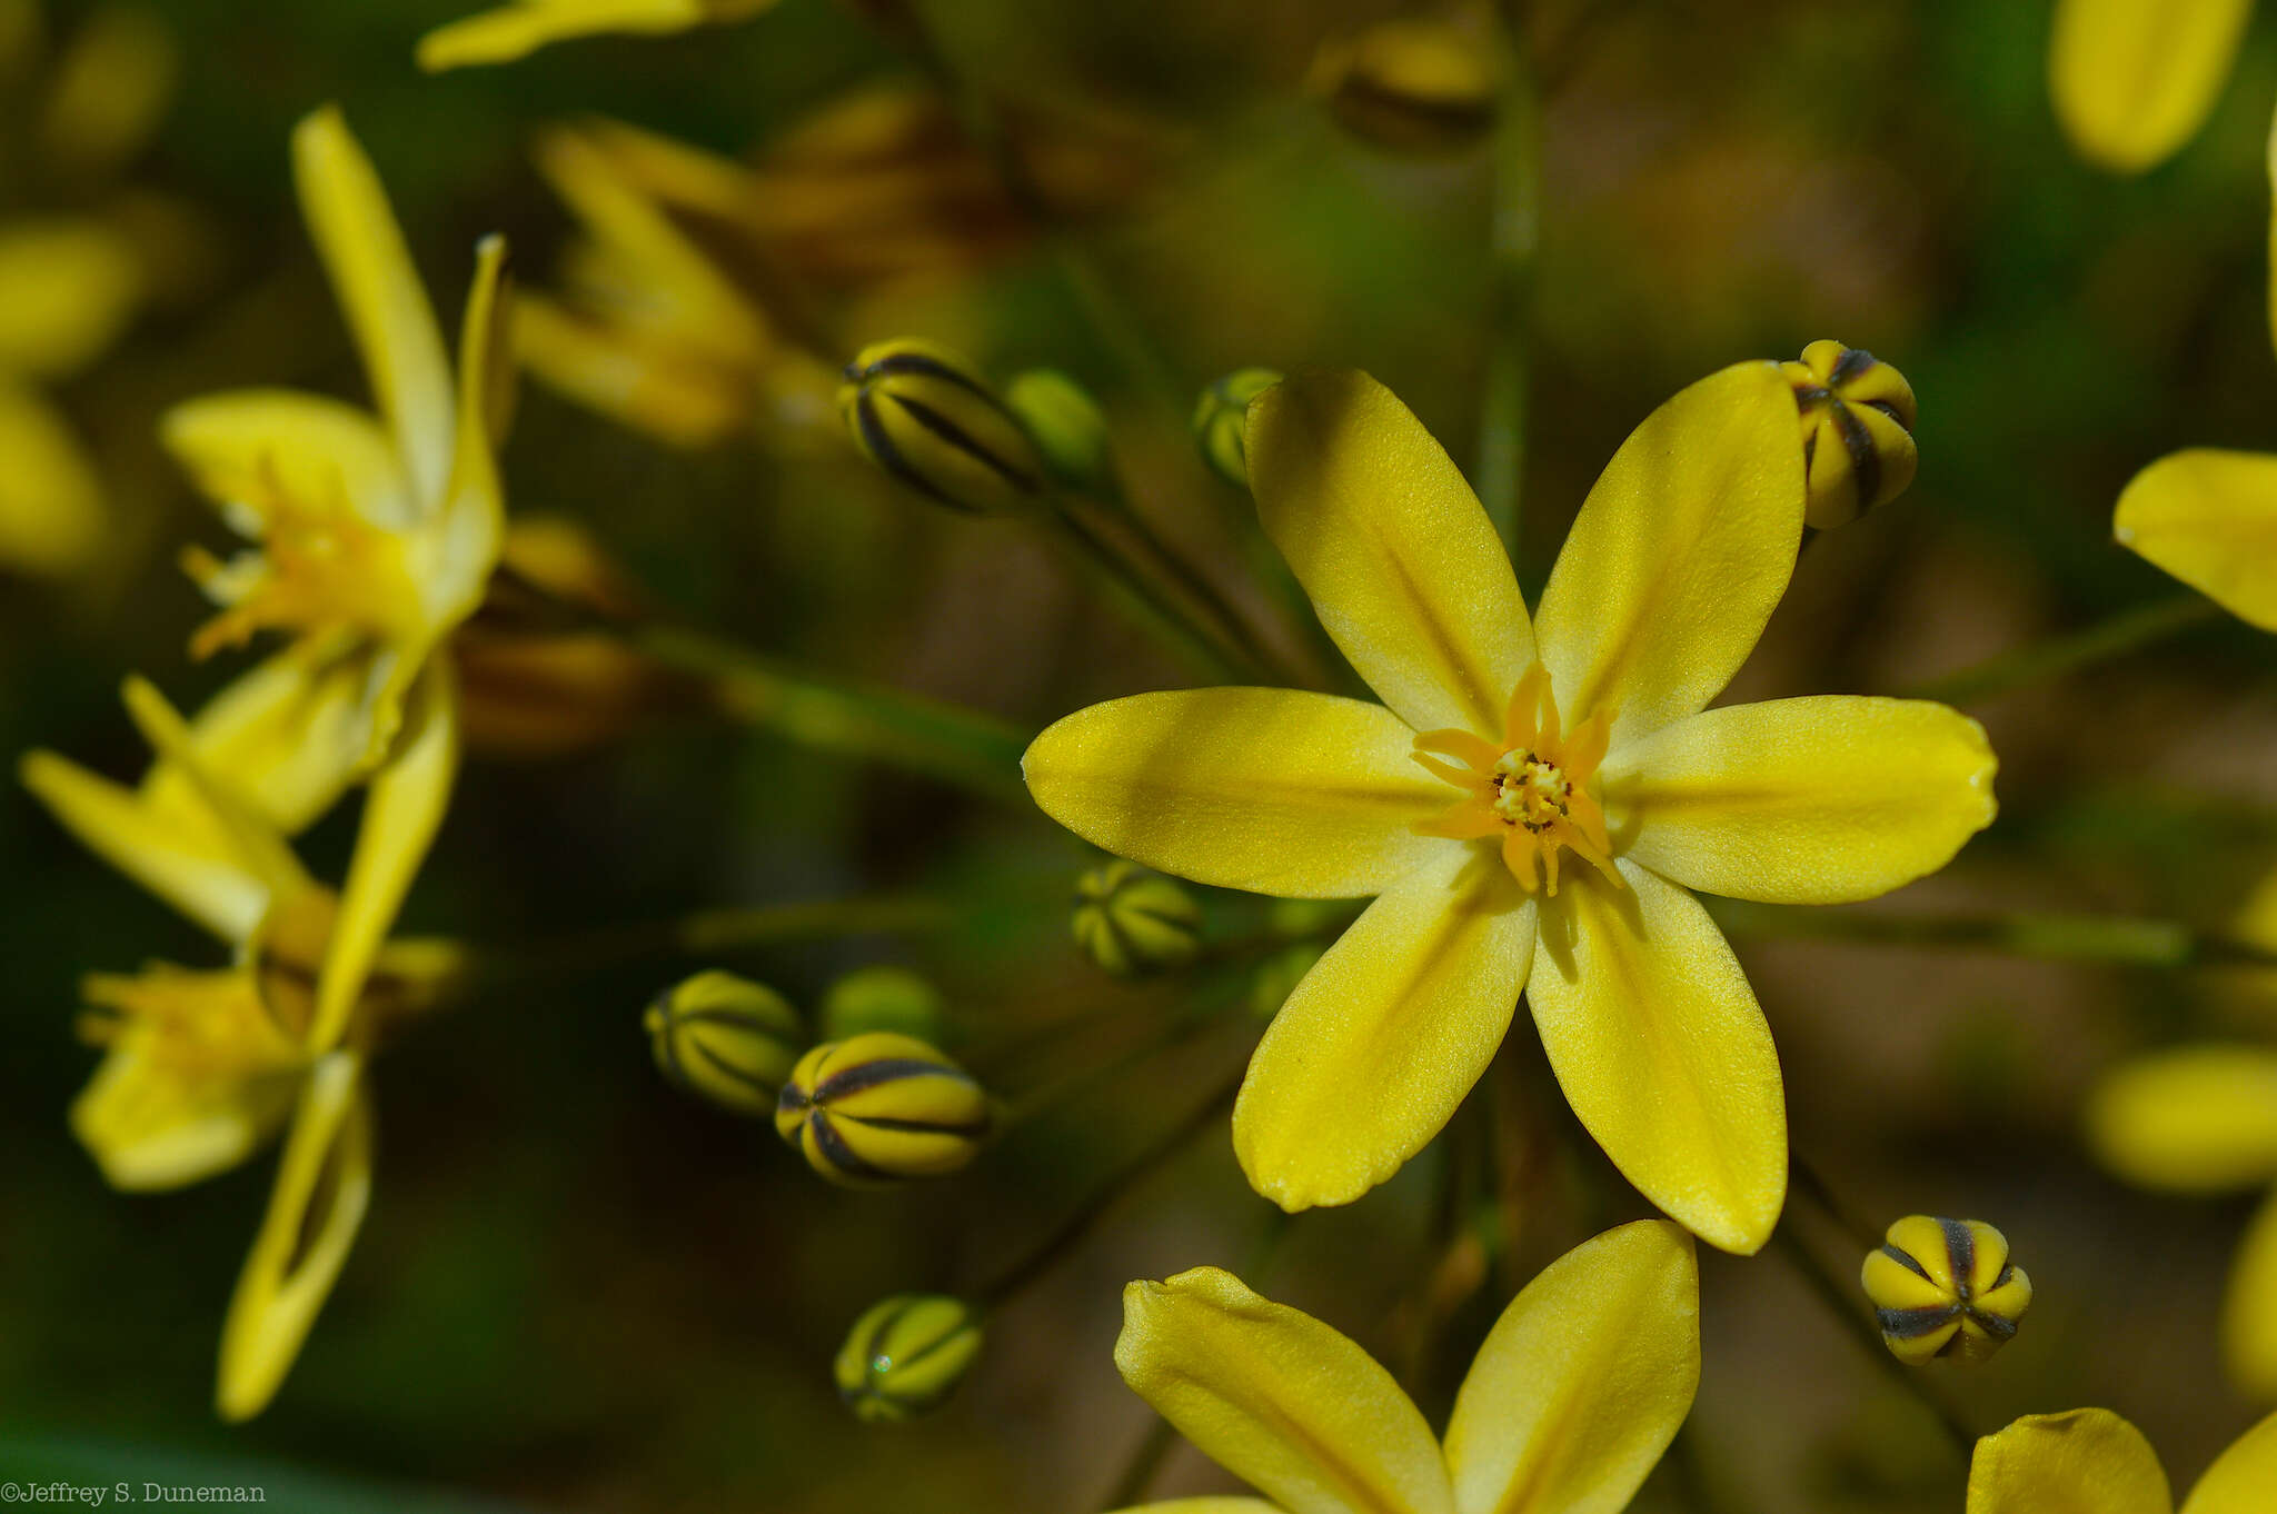
[[[2229,1443],[2181,1514],[2268,1514],[2277,1414]],[[2111,1409],[2027,1414],[1976,1441],[1970,1514],[2175,1514],[2159,1453]]]

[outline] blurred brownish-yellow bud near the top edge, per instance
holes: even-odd
[[[1446,157],[1494,130],[1501,77],[1482,39],[1437,20],[1387,20],[1323,48],[1314,84],[1368,146]]]

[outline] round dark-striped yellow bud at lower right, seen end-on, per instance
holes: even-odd
[[[2031,1307],[2031,1280],[2008,1261],[2008,1236],[1983,1220],[1906,1216],[1867,1252],[1858,1280],[1881,1316],[1881,1339],[1906,1366],[1983,1361]]]

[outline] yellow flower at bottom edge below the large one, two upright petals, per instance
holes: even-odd
[[[1699,1270],[1667,1220],[1553,1261],[1478,1348],[1446,1441],[1359,1346],[1218,1268],[1123,1291],[1123,1380],[1271,1503],[1159,1514],[1610,1514],[1699,1389]]]

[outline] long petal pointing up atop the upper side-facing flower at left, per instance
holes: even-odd
[[[403,246],[380,175],[337,107],[301,121],[294,184],[371,392],[396,437],[414,503],[442,496],[451,471],[451,367],[435,310]]]

